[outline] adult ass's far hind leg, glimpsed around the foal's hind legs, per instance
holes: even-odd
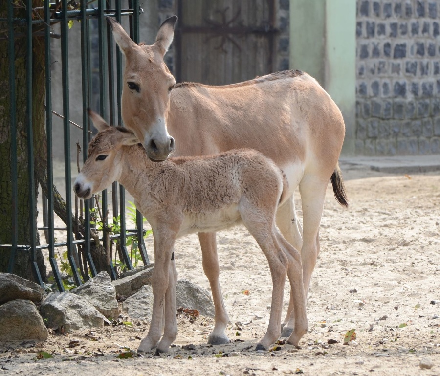
[[[303,235],[301,228],[301,223],[298,221],[295,210],[294,195],[282,205],[278,207],[277,210],[277,226],[280,229],[283,236],[286,238],[287,242],[292,244],[295,249],[301,249],[303,246]],[[293,291],[290,290],[289,295],[289,306],[286,312],[286,318],[281,324],[282,337],[289,337],[292,334],[293,328],[290,328],[287,324],[290,320],[290,315],[293,311]]]

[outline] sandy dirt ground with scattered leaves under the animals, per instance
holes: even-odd
[[[182,315],[168,354],[120,358],[148,330],[135,321],[35,346],[0,344],[0,375],[440,375],[440,302],[432,304],[440,301],[440,175],[341,167],[351,205],[339,206],[329,185],[301,350],[253,350],[267,326],[271,283],[261,250],[238,227],[218,234],[229,345],[206,344],[212,319]],[[197,235],[178,241],[176,266],[179,278],[209,289]],[[287,300],[286,285],[285,308]],[[356,338],[344,345],[351,329]],[[42,351],[53,358],[37,359]]]

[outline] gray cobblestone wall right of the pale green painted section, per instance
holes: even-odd
[[[357,154],[440,154],[439,23],[440,0],[357,0]]]

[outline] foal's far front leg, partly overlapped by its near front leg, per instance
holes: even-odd
[[[176,317],[176,284],[177,270],[174,261],[174,252],[171,256],[170,269],[168,274],[168,288],[165,292],[165,327],[162,339],[157,345],[158,353],[166,353],[168,348],[177,336],[177,317]]]

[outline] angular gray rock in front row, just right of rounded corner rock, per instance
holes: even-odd
[[[72,330],[100,328],[105,317],[85,298],[70,292],[51,292],[42,302],[40,314],[49,328]]]

